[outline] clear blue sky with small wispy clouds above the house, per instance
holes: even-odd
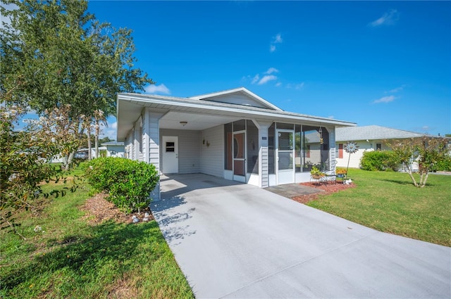
[[[245,87],[283,110],[451,134],[450,1],[89,1],[148,94]],[[115,119],[104,134],[115,137]]]

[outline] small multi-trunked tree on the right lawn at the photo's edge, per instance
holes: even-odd
[[[422,136],[412,139],[389,140],[384,143],[392,148],[398,163],[402,164],[414,185],[420,188],[426,186],[428,174],[434,166],[444,160],[449,154],[447,140],[440,137]],[[414,163],[418,164],[419,182],[413,175]]]

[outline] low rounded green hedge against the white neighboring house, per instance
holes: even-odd
[[[369,171],[397,171],[399,163],[392,151],[366,151],[360,160],[360,168]]]

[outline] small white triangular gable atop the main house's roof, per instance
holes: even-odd
[[[235,98],[235,101],[230,101],[230,96],[235,96],[238,98]],[[199,96],[191,96],[190,98],[192,98],[193,100],[214,101],[218,103],[230,103],[235,105],[267,108],[271,110],[283,111],[277,106],[257,96],[257,94],[254,94],[251,91],[245,89],[245,87],[217,91],[210,94],[201,94]]]

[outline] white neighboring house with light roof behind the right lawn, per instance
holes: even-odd
[[[337,148],[337,167],[359,168],[360,159],[366,151],[389,150],[383,144],[383,140],[388,139],[407,139],[421,137],[424,134],[403,131],[400,129],[391,129],[376,125],[364,127],[341,127],[335,130],[335,148]],[[348,141],[355,141],[359,150],[351,155],[345,151]]]

